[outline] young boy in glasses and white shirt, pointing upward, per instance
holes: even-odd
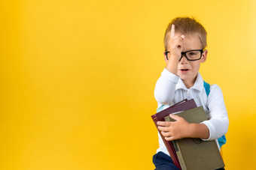
[[[197,20],[178,17],[166,28],[164,36],[164,60],[166,67],[157,80],[154,97],[158,108],[164,109],[184,99],[194,98],[197,106],[203,106],[208,121],[190,124],[178,115],[169,115],[175,122],[158,121],[158,129],[167,141],[183,138],[216,140],[227,133],[229,124],[221,88],[210,86],[209,96],[198,72],[206,61],[206,30]],[[159,136],[160,148],[153,157],[156,169],[178,169],[173,163],[163,140]]]

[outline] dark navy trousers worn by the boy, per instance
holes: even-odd
[[[153,163],[156,166],[155,170],[178,170],[178,167],[174,165],[172,162],[172,158],[163,152],[158,152],[153,156]],[[216,170],[224,170],[224,168],[216,169]]]

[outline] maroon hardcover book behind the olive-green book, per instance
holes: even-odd
[[[176,103],[175,105],[170,106],[167,109],[164,109],[154,115],[151,115],[151,118],[154,121],[154,124],[157,127],[157,121],[165,121],[164,118],[166,116],[168,116],[169,114],[175,113],[175,112],[181,112],[181,111],[186,111],[188,109],[193,109],[196,108],[197,104],[195,103],[194,99],[191,100],[182,100],[179,103]],[[157,129],[158,130],[158,129]],[[158,130],[158,132],[160,133],[160,131]],[[172,158],[173,163],[175,164],[175,166],[178,167],[178,169],[181,169],[181,166],[178,162],[178,157],[175,151],[175,148],[172,144],[172,141],[166,141],[166,139],[164,139],[164,137],[162,136],[162,134],[160,133],[160,136],[163,139],[164,144],[166,145],[166,148],[169,152],[169,155]]]

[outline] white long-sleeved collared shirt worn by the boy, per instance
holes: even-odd
[[[217,140],[227,133],[229,121],[221,88],[218,85],[211,85],[210,94],[207,97],[200,73],[197,75],[194,86],[188,89],[178,76],[164,69],[157,80],[154,97],[157,100],[158,107],[166,105],[164,109],[181,100],[192,98],[197,106],[203,106],[209,120],[203,121],[202,124],[206,124],[210,133],[209,139],[204,139],[205,141]],[[169,155],[159,133],[158,137],[160,148],[157,149],[157,152],[163,151]]]

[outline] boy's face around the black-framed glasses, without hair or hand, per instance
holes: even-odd
[[[184,38],[184,48],[182,52],[186,52],[193,49],[202,49],[200,43],[200,38],[197,34],[185,35]],[[177,75],[183,80],[184,85],[190,88],[194,85],[197,79],[197,73],[200,68],[200,63],[206,61],[207,50],[202,54],[202,58],[197,61],[187,61],[187,58],[182,56],[181,60],[178,62],[178,73]]]

